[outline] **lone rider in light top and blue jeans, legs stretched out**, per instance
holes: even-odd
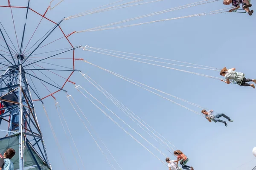
[[[222,123],[225,124],[225,126],[227,126],[227,122],[226,121],[219,119],[222,116],[224,118],[226,118],[229,122],[233,122],[233,120],[231,120],[230,117],[225,115],[224,113],[214,113],[213,110],[210,110],[210,111],[202,110],[201,113],[203,113],[205,115],[205,118],[209,122],[212,122],[212,121],[222,122]]]

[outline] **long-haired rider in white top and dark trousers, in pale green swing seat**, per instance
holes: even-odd
[[[221,81],[225,82],[229,85],[230,84],[230,79],[231,79],[231,80],[236,81],[238,85],[250,86],[252,88],[255,88],[254,84],[249,84],[247,82],[256,83],[256,79],[246,79],[244,77],[243,73],[238,73],[235,70],[236,70],[236,68],[230,68],[230,69],[227,69],[226,67],[222,68],[221,72],[220,72],[220,75],[224,76],[227,81],[224,81],[222,79],[221,79]]]

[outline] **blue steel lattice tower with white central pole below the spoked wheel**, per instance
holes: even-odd
[[[22,59],[19,58],[19,61]],[[29,91],[31,89],[26,79],[26,72],[22,65],[13,65],[7,68],[7,70],[0,76],[1,88],[0,88],[0,102],[3,104],[4,113],[0,115],[1,120],[5,120],[9,123],[8,129],[0,129],[2,132],[7,132],[10,137],[16,134],[18,137],[16,152],[19,153],[17,161],[19,163],[19,170],[27,168],[26,157],[24,152],[29,151],[29,148],[24,147],[24,144],[31,143],[35,140],[35,147],[30,145],[30,151],[32,155],[33,166],[41,166],[41,169],[51,169],[47,152],[45,149],[44,139],[38,125],[38,119],[35,114],[35,108],[32,100],[32,95]],[[3,117],[8,116],[8,120]],[[16,120],[17,118],[17,120]],[[26,127],[26,126],[28,127]],[[39,140],[40,139],[40,140]],[[41,141],[41,142],[40,142]],[[29,151],[29,152],[30,152]],[[35,153],[33,152],[35,151]],[[26,155],[27,156],[27,155]],[[43,162],[43,164],[42,164]],[[15,162],[16,163],[16,162]],[[38,167],[40,169],[40,167]]]

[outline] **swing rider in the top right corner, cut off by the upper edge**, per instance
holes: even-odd
[[[224,0],[223,4],[224,5],[230,5],[232,3],[232,5],[235,8],[232,8],[229,10],[229,12],[235,11],[238,8],[240,8],[240,3],[242,4],[243,9],[251,16],[253,14],[253,10],[250,11],[249,7],[252,6],[252,4],[250,4],[249,0]]]

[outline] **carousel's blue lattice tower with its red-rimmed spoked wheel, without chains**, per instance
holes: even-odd
[[[35,15],[39,15],[42,20],[44,19],[47,22],[53,24],[53,27],[49,29],[47,34],[44,34],[44,36],[35,43],[35,46],[32,45],[32,47],[29,48],[30,52],[29,50],[27,50],[28,52],[25,52],[26,47],[29,45],[30,40],[35,34],[35,32],[32,34],[32,37],[28,41],[28,45],[25,47],[24,37],[26,35],[26,21],[23,26],[18,27],[22,28],[23,34],[20,40],[20,45],[17,43],[17,49],[7,34],[8,29],[4,28],[3,24],[0,22],[0,38],[4,41],[4,45],[0,45],[0,58],[4,59],[4,62],[0,62],[0,66],[6,68],[5,70],[1,70],[3,72],[0,75],[0,136],[2,136],[2,138],[0,138],[0,157],[3,157],[5,150],[11,147],[16,151],[15,156],[12,158],[15,170],[51,170],[51,164],[48,160],[44,139],[38,124],[33,101],[41,101],[43,103],[42,100],[48,96],[54,97],[53,94],[57,93],[58,91],[65,91],[63,89],[64,85],[67,82],[70,82],[69,79],[71,75],[75,71],[78,71],[75,70],[74,65],[74,61],[78,60],[75,59],[75,49],[78,47],[73,47],[73,45],[68,40],[68,37],[74,32],[65,35],[64,31],[62,31],[60,27],[60,23],[64,19],[58,23],[55,23],[45,16],[49,7],[44,14],[39,14],[29,7],[30,0],[28,0],[27,6],[11,6],[10,0],[6,1],[8,2],[8,6],[3,6],[0,4],[0,8],[11,8],[11,11],[14,8],[26,10],[26,21],[29,12],[31,12]],[[42,57],[42,59],[29,59],[29,57],[31,57],[35,51],[38,51],[43,42],[48,43],[46,42],[47,38],[49,38],[49,36],[52,35],[52,32],[56,30],[62,34],[64,37],[63,40],[66,41],[66,45],[69,45],[69,48],[55,50],[58,52],[51,51],[53,52],[51,55],[49,55],[50,53],[48,52],[46,56]],[[7,40],[10,41],[8,42]],[[9,54],[3,53],[6,51],[8,51]],[[60,65],[52,66],[52,62],[47,64],[50,64],[53,68],[43,68],[38,65],[38,63],[45,63],[46,59],[50,59],[61,54],[64,54],[62,57],[66,57],[68,56],[66,53],[69,51],[71,52],[72,57],[68,59],[72,59],[70,60],[72,61],[70,62],[72,68],[67,68],[67,66],[64,65],[65,67],[56,69],[56,67]],[[61,64],[61,62],[57,64]],[[30,68],[30,66],[33,68]],[[49,71],[51,73],[54,73],[53,71],[65,71],[69,73],[67,74],[66,78],[58,75],[59,77],[64,78],[62,85],[53,85],[53,83],[50,83],[49,81],[44,80],[35,74],[31,74],[31,71],[33,73],[34,71]],[[55,88],[54,92],[51,92],[49,95],[44,94],[44,97],[40,97],[38,91],[35,89],[36,87],[32,88],[31,83],[27,80],[27,77],[29,77],[31,80],[32,78],[37,79],[38,81]],[[33,100],[32,96],[36,99]]]

